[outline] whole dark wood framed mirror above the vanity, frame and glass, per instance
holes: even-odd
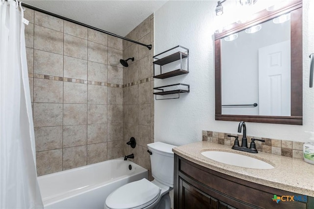
[[[286,29],[276,24],[284,15],[289,16]],[[254,39],[256,26],[268,35]],[[302,125],[302,0],[285,1],[279,9],[264,9],[251,21],[228,28],[214,35],[215,120]],[[279,34],[284,30],[288,35]],[[244,38],[245,33],[251,36]],[[229,44],[239,36],[242,42],[238,38],[238,43]],[[280,43],[257,39],[275,36]]]

